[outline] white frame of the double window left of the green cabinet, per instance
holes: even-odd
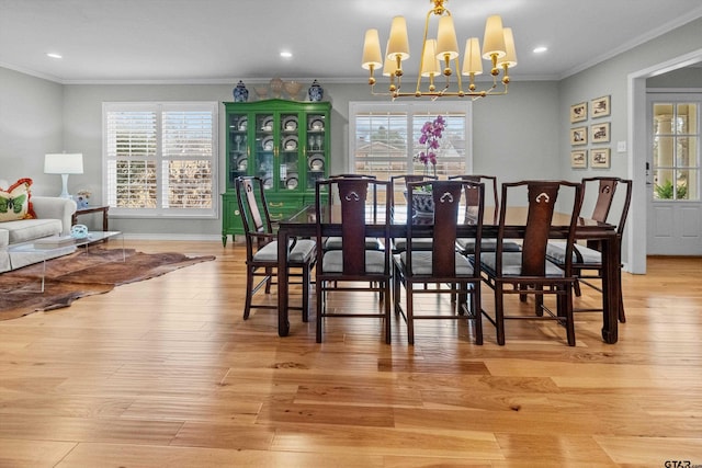
[[[162,162],[170,161],[172,158],[163,156],[163,113],[166,112],[208,112],[212,118],[212,135],[210,158],[211,165],[211,205],[208,208],[170,208],[166,207],[168,201],[163,201],[163,169]],[[110,193],[110,162],[114,160],[109,155],[109,113],[111,112],[154,112],[156,114],[156,208],[124,208],[110,204],[114,198]],[[102,104],[102,199],[104,204],[110,205],[110,216],[115,218],[171,218],[171,219],[217,219],[218,218],[218,201],[219,193],[219,106],[215,101],[172,101],[172,102],[103,102]]]

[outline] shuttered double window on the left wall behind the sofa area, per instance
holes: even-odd
[[[110,215],[217,216],[217,103],[105,103]]]

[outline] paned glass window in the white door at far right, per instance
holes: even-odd
[[[700,199],[700,105],[653,102],[654,199]]]

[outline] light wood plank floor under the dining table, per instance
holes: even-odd
[[[0,322],[0,467],[702,465],[702,259],[624,274],[615,345],[597,313],[576,347],[521,322],[476,346],[453,321],[414,347],[394,321],[386,345],[375,319],[320,345],[297,313],[283,339],[273,311],[241,319],[241,244],[127,243],[217,260]]]

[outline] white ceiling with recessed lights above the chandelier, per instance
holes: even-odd
[[[428,0],[0,0],[0,66],[61,83],[365,82],[363,35],[407,18],[409,76]],[[458,43],[511,26],[513,80],[562,79],[702,16],[700,0],[451,0]],[[548,52],[533,54],[536,46]],[[283,59],[281,50],[293,58]],[[46,56],[58,53],[61,59]],[[485,66],[485,64],[484,64]]]

